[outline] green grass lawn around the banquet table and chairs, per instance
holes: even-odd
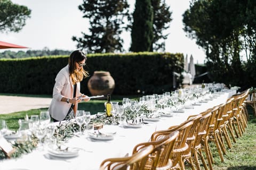
[[[111,97],[112,101],[119,101],[122,103],[122,98],[124,96],[113,96]],[[127,96],[126,96],[127,97]],[[138,96],[129,96],[129,98],[137,98]],[[87,103],[80,103],[78,109],[85,111],[90,111],[91,114],[96,114],[97,112],[105,112],[104,103],[106,99],[102,100],[91,100]],[[23,119],[26,114],[30,115],[37,114],[41,111],[47,110],[47,108],[42,109],[32,109],[26,112],[15,112],[11,114],[0,115],[0,119],[4,119],[7,122],[7,126],[11,130],[17,130],[19,128],[18,120]],[[251,107],[248,108],[250,114],[250,120],[248,128],[242,137],[237,139],[236,143],[233,144],[232,149],[227,148],[227,155],[224,155],[225,163],[221,163],[218,151],[214,145],[211,145],[211,149],[214,156],[214,169],[256,169],[256,117],[253,116],[253,111]],[[202,169],[204,169],[202,167]]]

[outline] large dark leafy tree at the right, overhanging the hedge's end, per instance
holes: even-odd
[[[184,30],[205,49],[213,81],[240,86],[255,80],[246,73],[252,70],[250,63],[255,63],[256,56],[255,6],[251,0],[191,1],[183,14]],[[242,60],[242,52],[247,61]]]

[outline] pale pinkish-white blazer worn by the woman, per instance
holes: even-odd
[[[53,87],[53,98],[48,109],[52,118],[62,121],[71,106],[71,103],[60,101],[62,97],[73,98],[74,86],[69,76],[68,65],[63,67],[55,78]],[[80,83],[77,83],[76,96],[80,94]]]

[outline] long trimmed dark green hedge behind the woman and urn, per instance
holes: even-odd
[[[68,64],[68,56],[44,56],[0,60],[0,92],[12,94],[52,94],[55,77]],[[161,94],[173,90],[172,72],[182,72],[183,54],[127,53],[89,54],[85,70],[108,71],[115,80],[116,95]],[[81,82],[81,92],[90,94],[89,78]],[[178,80],[178,83],[181,80]]]

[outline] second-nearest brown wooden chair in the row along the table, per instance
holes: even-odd
[[[178,135],[179,131],[174,131],[168,135],[162,135],[156,141],[139,143],[134,147],[132,154],[136,154],[141,149],[153,145],[154,150],[147,159],[145,169],[169,169],[172,167],[170,155]]]

